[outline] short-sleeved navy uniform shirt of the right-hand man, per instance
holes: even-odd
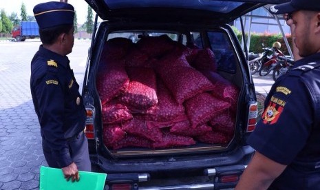
[[[248,138],[260,154],[288,165],[271,185],[275,189],[320,189],[319,66],[320,54],[313,54],[275,81]]]

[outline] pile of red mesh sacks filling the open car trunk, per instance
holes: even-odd
[[[228,144],[239,91],[216,72],[210,49],[167,35],[105,43],[96,87],[110,149]]]

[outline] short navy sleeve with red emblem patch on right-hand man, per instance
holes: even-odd
[[[288,77],[270,93],[248,144],[271,160],[289,165],[310,136],[311,96],[308,87],[297,77]]]

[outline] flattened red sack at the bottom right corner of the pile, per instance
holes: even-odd
[[[225,145],[225,144],[228,144],[228,142],[230,142],[231,136],[228,136],[218,131],[209,131],[202,136],[198,136],[197,140],[199,140],[200,142],[209,143],[209,144]]]

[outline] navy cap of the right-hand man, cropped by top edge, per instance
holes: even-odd
[[[320,11],[320,2],[319,0],[291,0],[269,8],[271,14],[285,14],[297,10]]]

